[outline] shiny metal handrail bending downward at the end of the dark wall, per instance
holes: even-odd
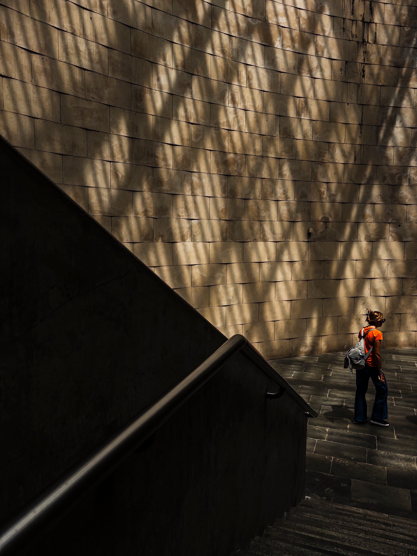
[[[272,369],[262,355],[244,336],[236,334],[222,344],[209,358],[163,395],[147,410],[133,418],[127,425],[98,449],[88,459],[69,470],[45,489],[0,532],[0,554],[16,554],[47,525],[69,511],[77,500],[111,473],[118,464],[138,448],[180,406],[214,376],[232,355],[244,349],[245,355],[280,387],[277,393],[267,393],[269,398],[280,398],[287,393],[304,409],[316,417],[317,413]]]

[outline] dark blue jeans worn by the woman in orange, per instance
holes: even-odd
[[[385,375],[384,375],[385,376]],[[375,400],[372,409],[371,419],[386,419],[388,418],[388,385],[379,381],[379,372],[376,367],[366,365],[364,369],[356,370],[356,394],[355,394],[355,421],[366,421],[366,398],[365,394],[368,391],[368,383],[371,379],[375,386]]]

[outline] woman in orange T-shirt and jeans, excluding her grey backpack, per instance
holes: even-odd
[[[388,397],[388,386],[386,385],[382,369],[380,351],[383,335],[377,330],[384,324],[385,319],[381,312],[368,309],[366,322],[368,322],[369,325],[365,326],[364,334],[368,330],[369,332],[364,337],[365,349],[366,353],[368,353],[372,347],[372,351],[368,359],[366,359],[364,369],[356,370],[355,414],[353,422],[356,425],[360,425],[368,421],[365,394],[368,390],[369,379],[371,379],[376,390],[374,407],[370,419],[371,425],[389,426],[389,423],[385,420],[388,418],[388,403],[386,401]],[[358,337],[361,337],[361,331],[359,331]]]

